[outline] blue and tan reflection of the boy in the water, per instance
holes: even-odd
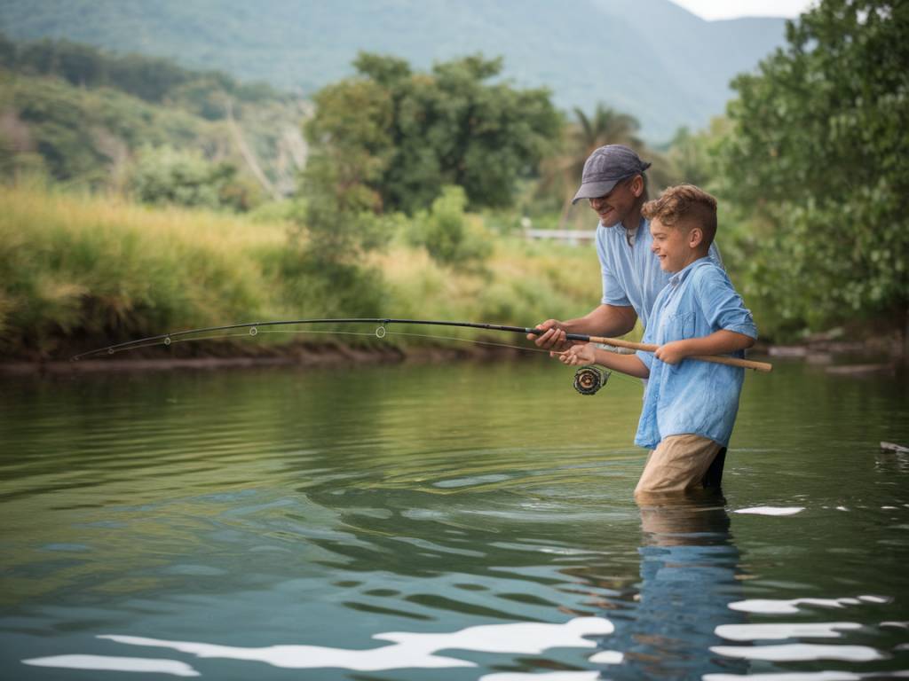
[[[716,627],[744,621],[728,607],[742,596],[739,551],[725,500],[641,498],[641,582],[633,604],[612,613],[615,633],[604,647],[621,651],[613,679],[700,679],[735,673],[747,664],[711,652],[722,643]]]

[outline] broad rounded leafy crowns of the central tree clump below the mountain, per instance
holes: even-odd
[[[376,211],[413,213],[445,185],[462,187],[474,208],[509,205],[559,131],[545,90],[489,82],[498,59],[466,57],[424,74],[361,54],[355,66],[357,76],[315,95],[307,135],[316,163],[347,191],[371,194]]]

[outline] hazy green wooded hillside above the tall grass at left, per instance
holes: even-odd
[[[269,85],[240,84],[217,72],[0,35],[6,175],[37,172],[71,185],[123,189],[142,163],[180,158],[202,173],[233,178],[235,207],[248,207],[255,195],[294,189],[305,160],[304,107]]]

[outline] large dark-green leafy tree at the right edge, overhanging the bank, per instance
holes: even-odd
[[[823,0],[741,75],[724,195],[763,225],[754,291],[792,329],[909,321],[909,4]]]

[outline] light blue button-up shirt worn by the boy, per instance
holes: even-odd
[[[644,342],[663,345],[720,330],[757,338],[754,318],[723,268],[701,258],[670,276],[654,302]],[[686,434],[729,444],[744,369],[691,359],[666,364],[644,351],[637,356],[650,370],[650,380],[636,445],[654,449],[670,435]],[[735,356],[744,357],[744,352]]]

